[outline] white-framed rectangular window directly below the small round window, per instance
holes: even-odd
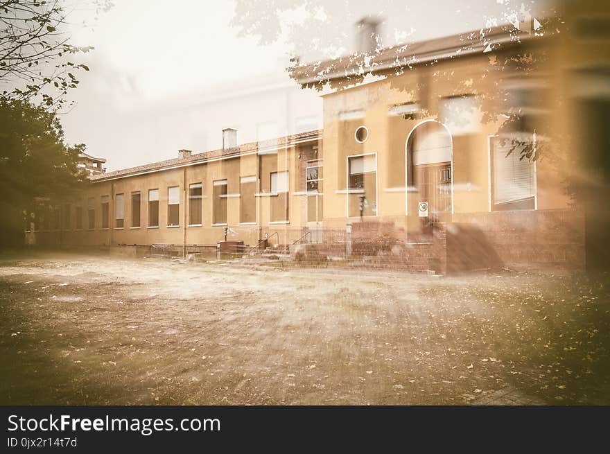
[[[376,216],[377,213],[377,163],[375,155],[347,158],[349,191],[347,216]]]

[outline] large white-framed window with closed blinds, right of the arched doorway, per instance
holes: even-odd
[[[492,209],[534,209],[536,193],[535,164],[523,157],[521,149],[507,139],[491,143]]]

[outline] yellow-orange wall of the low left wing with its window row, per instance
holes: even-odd
[[[317,155],[317,148],[317,139],[313,139],[261,154],[251,152],[94,181],[75,198],[59,205],[59,225],[53,219],[52,225],[47,221],[45,228],[42,225],[44,216],[55,216],[55,213],[39,213],[39,222],[26,232],[26,237],[28,243],[42,245],[216,245],[225,240],[227,229],[227,241],[256,245],[267,234],[271,244],[290,244],[302,236],[302,226],[307,225],[308,196],[299,175],[299,169],[303,167],[301,161]],[[271,174],[276,172],[288,172],[288,187],[272,193]],[[219,193],[223,182],[226,182],[226,189]],[[195,198],[189,195],[191,184],[201,184],[201,194]],[[169,219],[170,188],[177,188],[177,222]],[[153,225],[149,213],[153,205],[148,200],[151,190],[158,193],[158,222],[152,222]],[[134,212],[132,195],[137,193],[139,210]],[[116,217],[117,200],[121,195],[122,222]],[[104,224],[106,208],[103,202],[106,199],[108,220]],[[193,210],[193,204],[200,208]],[[81,207],[80,228],[76,220],[77,207]],[[89,207],[94,213],[91,226]],[[193,221],[191,211],[200,219]]]

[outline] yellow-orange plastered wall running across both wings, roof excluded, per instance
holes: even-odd
[[[516,218],[564,222],[567,215],[557,217],[556,213],[568,213],[571,208],[570,198],[564,189],[565,173],[562,174],[566,169],[560,168],[566,164],[558,164],[561,159],[542,159],[532,164],[532,200],[521,202],[517,199],[517,202],[503,205],[494,198],[496,170],[491,150],[496,146],[492,143],[498,137],[500,124],[507,113],[507,87],[530,90],[525,98],[536,99],[537,102],[537,94],[544,94],[539,104],[534,106],[537,112],[535,118],[532,117],[528,128],[520,132],[527,132],[535,140],[536,135],[531,132],[541,126],[566,130],[568,133],[574,132],[575,128],[566,121],[570,116],[570,103],[557,101],[561,99],[560,91],[564,89],[561,84],[564,78],[561,62],[564,60],[557,55],[564,51],[561,46],[545,47],[543,51],[548,63],[528,73],[525,78],[523,70],[515,63],[519,60],[516,57],[537,51],[528,47],[532,45],[514,44],[491,53],[439,60],[398,75],[389,70],[385,73],[381,71],[380,75],[386,76],[381,80],[343,87],[326,94],[322,137],[314,134],[304,142],[290,143],[276,149],[250,150],[241,155],[220,156],[141,175],[112,177],[110,173],[94,179],[78,202],[72,201],[70,208],[74,210],[74,204],[80,203],[82,229],[76,229],[72,211],[66,229],[42,232],[39,227],[37,232],[30,232],[30,243],[215,245],[225,239],[227,227],[228,241],[243,241],[249,245],[256,245],[265,236],[272,244],[288,245],[298,241],[308,230],[313,232],[313,242],[340,242],[336,238],[344,238],[349,225],[360,222],[360,202],[363,200],[364,221],[391,222],[399,235],[397,241],[417,243],[425,225],[418,213],[418,205],[424,195],[419,192],[421,186],[414,182],[413,156],[415,136],[425,125],[435,125],[437,130],[446,131],[451,148],[450,157],[434,162],[449,166],[451,191],[445,194],[446,199],[442,202],[445,204],[444,211],[431,213],[430,216],[438,216],[437,220],[448,225],[458,222],[462,232],[468,231],[463,227],[467,223],[483,222],[487,225],[494,222],[498,227],[498,222],[501,224],[503,219],[512,218],[509,214],[493,213],[498,210],[521,213],[516,214]],[[456,99],[475,100],[476,112],[448,116],[446,105]],[[466,124],[460,124],[460,121]],[[539,135],[542,143],[545,137]],[[277,139],[278,143],[284,140],[287,138]],[[312,189],[312,182],[308,182],[308,167],[315,166],[315,162],[319,165],[318,178],[315,189]],[[358,172],[352,172],[354,168],[360,169],[356,176]],[[279,175],[283,172],[288,173],[287,185]],[[272,191],[272,173],[278,173],[275,184],[281,186],[281,191],[277,193]],[[219,189],[223,180],[226,180],[226,186]],[[202,185],[201,198],[197,201],[201,204],[202,217],[198,225],[189,225],[192,224],[189,216],[193,203],[189,200],[189,185],[198,183]],[[179,220],[175,222],[176,225],[168,225],[170,187],[178,188]],[[150,189],[159,191],[158,227],[148,225]],[[141,194],[139,227],[132,225],[131,216],[131,195],[136,191]],[[123,227],[116,224],[115,216],[116,196],[119,194],[124,194]],[[107,228],[101,225],[103,196],[110,199]],[[96,210],[92,229],[87,228],[90,199],[94,200]],[[544,215],[546,211],[551,214]],[[223,219],[218,219],[218,213],[222,213],[220,217]],[[477,214],[467,216],[469,213]],[[65,225],[65,219],[61,217]],[[552,242],[539,255],[548,257],[548,261],[554,263],[564,263],[577,257],[575,261],[581,263],[584,229],[581,224],[576,222],[574,228],[562,231],[565,233],[561,239],[562,250],[570,251],[565,254],[558,252],[564,254],[563,259],[552,252],[555,244]],[[539,229],[540,234],[536,233],[537,225],[543,225]],[[318,231],[325,233],[317,234]],[[487,243],[502,249],[499,255],[505,257],[504,263],[536,261],[518,251],[514,252],[516,255],[510,255],[507,243],[498,239],[505,235],[501,227],[485,232]],[[532,241],[537,241],[543,238],[544,232],[550,232],[548,222],[534,222],[528,235],[534,238]],[[451,248],[460,250],[455,243],[457,237],[451,229],[449,233]],[[410,236],[412,234],[415,236]],[[468,236],[462,238],[469,241]],[[309,238],[307,241],[310,241]],[[527,248],[528,241],[515,247]],[[449,259],[449,263],[456,262]]]

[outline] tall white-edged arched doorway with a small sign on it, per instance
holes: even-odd
[[[450,220],[453,212],[453,140],[446,126],[435,120],[417,124],[405,143],[405,164],[409,230],[431,233],[433,220]],[[420,202],[428,202],[428,218],[419,218]]]

